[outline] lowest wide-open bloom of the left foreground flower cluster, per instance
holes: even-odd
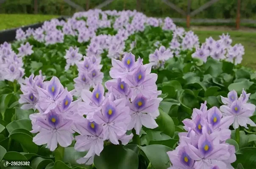
[[[67,120],[51,110],[47,114],[41,114],[36,118],[33,125],[39,126],[39,133],[33,138],[37,145],[47,144],[47,148],[54,151],[57,144],[68,147],[73,138],[74,131],[71,130],[72,120]]]

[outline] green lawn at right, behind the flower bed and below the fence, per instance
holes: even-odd
[[[200,42],[204,42],[206,38],[211,36],[215,40],[220,39],[222,33],[229,33],[233,40],[232,45],[242,44],[245,47],[245,55],[243,56],[242,65],[256,70],[256,32],[242,31],[226,31],[223,30],[194,30],[198,35]]]

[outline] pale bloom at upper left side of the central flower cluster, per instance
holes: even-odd
[[[89,90],[83,90],[81,96],[83,102],[78,104],[80,114],[85,114],[87,119],[92,120],[95,112],[101,110],[101,106],[105,99],[104,87],[99,83],[92,92]]]

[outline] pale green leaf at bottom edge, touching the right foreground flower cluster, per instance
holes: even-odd
[[[173,150],[170,147],[152,144],[145,147],[139,146],[139,148],[145,153],[155,169],[167,169],[170,167],[170,159],[167,155],[168,151]]]

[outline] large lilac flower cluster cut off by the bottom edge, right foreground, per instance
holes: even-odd
[[[187,132],[179,133],[178,147],[167,152],[170,169],[234,169],[235,147],[225,143],[231,123],[216,106],[207,110],[206,102],[201,104],[183,123]]]

